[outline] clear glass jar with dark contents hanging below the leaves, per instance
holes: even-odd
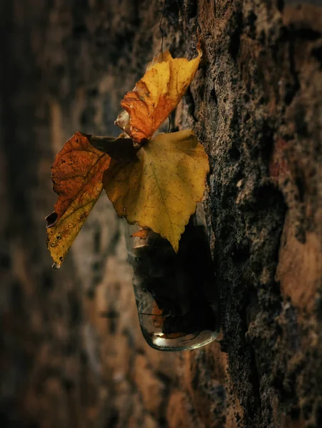
[[[159,234],[125,220],[124,233],[146,342],[156,350],[182,351],[216,339],[218,298],[202,211],[186,225],[178,253]]]

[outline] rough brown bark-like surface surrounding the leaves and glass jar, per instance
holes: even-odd
[[[168,0],[163,48],[203,61],[172,128],[211,160],[223,338],[141,337],[105,195],[51,270],[50,167],[80,129],[117,135],[159,52],[163,1],[1,2],[1,427],[322,426],[322,6]]]

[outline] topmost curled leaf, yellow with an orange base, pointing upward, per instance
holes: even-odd
[[[166,51],[149,63],[146,73],[136,83],[134,91],[126,93],[121,101],[122,111],[116,125],[122,128],[136,143],[151,138],[161,123],[178,105],[198,69],[198,56],[172,58]]]

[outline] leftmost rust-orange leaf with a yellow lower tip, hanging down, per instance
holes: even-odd
[[[115,140],[115,138],[114,138]],[[47,218],[47,244],[54,267],[60,267],[103,187],[111,157],[91,145],[91,136],[76,132],[55,158],[51,170],[58,194]]]

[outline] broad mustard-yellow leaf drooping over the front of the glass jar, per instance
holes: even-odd
[[[208,156],[191,130],[160,134],[137,156],[138,163],[112,160],[104,189],[119,216],[160,233],[177,252],[181,233],[203,197]]]

